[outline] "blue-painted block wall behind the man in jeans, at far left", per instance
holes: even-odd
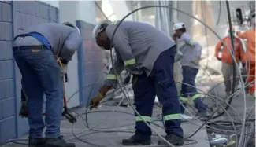
[[[0,145],[28,132],[20,108],[20,71],[13,61],[11,41],[24,28],[58,22],[58,9],[43,2],[0,1]]]

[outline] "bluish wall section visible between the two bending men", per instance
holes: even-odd
[[[82,35],[82,45],[78,50],[78,69],[80,81],[80,106],[86,106],[89,98],[97,94],[98,88],[104,80],[102,50],[95,46],[91,31],[95,27],[82,20],[76,21]]]

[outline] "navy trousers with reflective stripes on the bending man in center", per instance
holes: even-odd
[[[141,115],[136,117],[136,134],[141,134],[149,138],[151,130],[142,121],[150,124],[154,108],[154,99],[158,95],[158,100],[163,105],[162,113],[165,119],[166,133],[183,136],[180,127],[180,101],[173,79],[173,61],[176,49],[165,50],[154,63],[154,68],[150,77],[144,72],[138,75],[138,80],[133,86],[135,108]],[[169,62],[166,62],[168,60]]]

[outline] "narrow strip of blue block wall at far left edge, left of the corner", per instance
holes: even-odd
[[[0,2],[0,145],[16,137],[12,2]]]

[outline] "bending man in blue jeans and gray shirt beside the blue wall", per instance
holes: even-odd
[[[60,135],[64,97],[61,74],[65,74],[67,64],[81,40],[79,29],[70,23],[38,24],[14,38],[13,55],[20,68],[24,93],[28,97],[30,147],[75,146],[66,143]],[[43,93],[46,95],[45,121],[42,116]],[[46,138],[43,138],[44,127]]]

